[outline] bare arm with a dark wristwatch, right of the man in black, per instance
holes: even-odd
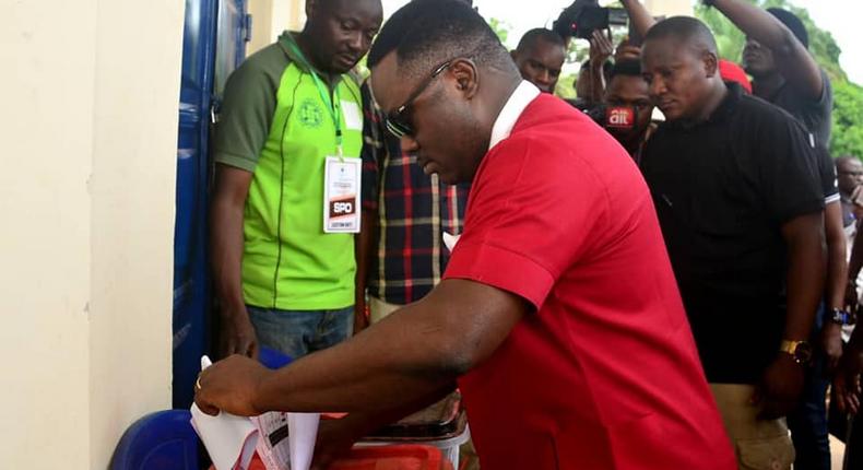
[[[842,204],[834,201],[824,208],[824,231],[827,240],[827,286],[826,307],[829,310],[843,309],[846,284],[848,282],[848,261],[846,260],[846,235],[842,230]],[[821,329],[821,349],[832,369],[842,356],[842,326],[826,321]]]

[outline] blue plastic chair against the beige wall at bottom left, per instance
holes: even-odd
[[[189,410],[158,411],[120,438],[110,470],[198,470],[198,435]]]

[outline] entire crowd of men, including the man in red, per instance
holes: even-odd
[[[796,16],[705,1],[744,72],[698,20],[623,0],[643,39],[593,32],[566,103],[570,36],[507,51],[470,1],[382,28],[379,0],[306,3],[225,91],[204,411],[347,412],[326,468],[458,386],[485,469],[830,469],[830,378],[860,406],[863,164],[828,152]]]

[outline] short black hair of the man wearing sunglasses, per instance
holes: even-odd
[[[399,70],[407,73],[427,73],[457,57],[519,73],[495,32],[462,0],[417,0],[402,7],[375,39],[368,67],[377,67],[392,51]]]

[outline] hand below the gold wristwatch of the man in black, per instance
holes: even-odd
[[[758,418],[776,420],[787,416],[797,404],[803,379],[804,367],[794,362],[791,355],[780,353],[765,371],[753,396],[753,402],[761,404]]]

